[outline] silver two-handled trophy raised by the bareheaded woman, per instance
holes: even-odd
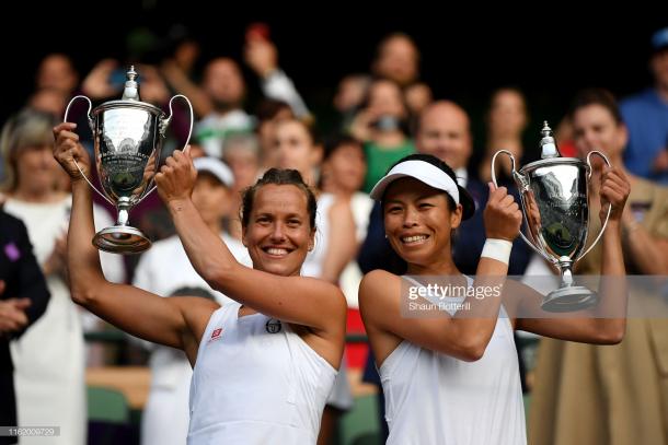
[[[77,167],[89,185],[116,207],[116,225],[101,230],[93,237],[99,249],[116,254],[139,254],[151,247],[151,241],[140,230],[128,224],[130,209],[141,202],[156,187],[153,177],[165,131],[172,119],[172,102],[183,98],[191,112],[191,130],[186,147],[193,133],[193,106],[184,95],[170,99],[170,116],[162,109],[139,99],[135,67],[127,72],[127,81],[120,101],[110,101],[95,107],[87,96],[72,97],[65,110],[65,121],[72,103],[83,98],[89,103],[88,121],[93,132],[95,166],[104,194],[90,181],[79,164]]]

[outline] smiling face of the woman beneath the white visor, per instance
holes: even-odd
[[[388,239],[410,267],[450,258],[450,234],[461,222],[461,206],[450,211],[445,191],[414,178],[398,179],[385,191],[383,213]]]

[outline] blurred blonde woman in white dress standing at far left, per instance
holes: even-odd
[[[60,436],[54,444],[81,445],[87,428],[85,356],[82,319],[66,280],[71,196],[58,188],[54,174],[51,129],[57,122],[50,114],[25,109],[2,131],[0,149],[9,168],[4,210],[25,223],[51,294],[44,316],[11,344],[11,351],[21,424],[59,425]],[[95,220],[97,230],[113,224],[101,208],[95,210]],[[108,268],[108,261],[118,260],[112,254],[103,256],[110,280],[123,281],[120,268]],[[35,443],[41,438],[35,437]]]

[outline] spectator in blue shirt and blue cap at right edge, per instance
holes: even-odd
[[[641,177],[668,184],[668,27],[652,37],[654,86],[620,104],[629,128],[624,162]]]

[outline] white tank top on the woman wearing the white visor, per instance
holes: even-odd
[[[379,373],[388,445],[527,443],[512,326],[503,306],[480,360],[464,362],[404,340]]]

